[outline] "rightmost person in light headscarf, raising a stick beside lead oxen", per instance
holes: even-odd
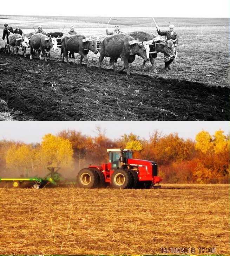
[[[174,44],[174,51],[175,51],[175,54],[176,54],[176,47],[178,45],[178,38],[177,38],[177,33],[174,31],[175,29],[175,26],[170,24],[169,25],[169,31],[160,31],[159,27],[156,26],[157,28],[157,33],[159,36],[165,36],[165,38],[167,40],[172,40],[173,41],[173,44]],[[171,68],[170,68],[170,64],[173,62],[173,59],[170,59],[168,57],[166,57],[164,55],[164,62],[165,62],[165,70],[166,71],[169,71]]]

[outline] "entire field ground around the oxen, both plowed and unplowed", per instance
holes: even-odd
[[[122,19],[124,31],[156,33],[146,20],[137,18],[134,26],[131,18],[127,18],[130,24]],[[43,22],[50,32],[62,30],[65,20],[56,22],[56,27],[53,20],[44,18]],[[165,22],[159,18],[163,30],[167,29]],[[95,19],[89,23],[85,18],[78,21],[76,29],[83,34],[105,33],[105,28],[94,26],[95,23]],[[142,59],[136,57],[130,65],[132,75],[127,77],[125,72],[114,74],[106,61],[99,72],[99,54],[90,53],[91,67],[86,69],[79,66],[79,57],[71,60],[70,66],[61,64],[60,50],[53,52],[48,64],[35,58],[29,61],[29,49],[25,59],[1,51],[0,99],[7,103],[14,120],[229,120],[228,19],[214,22],[213,19],[174,18],[173,23],[179,45],[178,59],[170,72],[163,70],[161,54],[156,59],[158,75],[152,75],[150,63],[142,70]],[[25,28],[21,25],[26,32],[32,31],[28,24]],[[220,33],[226,38],[223,44],[215,41]],[[3,41],[0,46],[4,46]]]

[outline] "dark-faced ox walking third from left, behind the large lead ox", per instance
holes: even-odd
[[[91,50],[94,54],[98,53],[97,41],[95,39],[86,38],[83,35],[64,35],[61,38],[61,42],[63,46],[62,62],[64,62],[65,57],[68,64],[70,64],[68,61],[68,51],[79,53],[81,56],[80,65],[84,59],[86,66],[88,66],[88,51]]]

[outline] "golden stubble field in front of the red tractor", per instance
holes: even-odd
[[[230,254],[229,185],[1,188],[0,194],[1,254],[166,254],[160,248],[169,247]],[[178,250],[168,254],[184,254]]]

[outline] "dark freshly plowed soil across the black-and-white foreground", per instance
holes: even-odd
[[[98,56],[97,56],[98,57]],[[79,63],[79,62],[77,62]],[[143,73],[114,73],[59,58],[48,63],[0,52],[0,98],[15,120],[229,120],[229,88]],[[142,63],[142,60],[139,60]],[[137,65],[137,64],[135,64]],[[108,69],[110,68],[110,69]],[[140,66],[138,66],[140,69]],[[131,69],[132,72],[132,69]],[[18,110],[18,111],[17,111]]]

